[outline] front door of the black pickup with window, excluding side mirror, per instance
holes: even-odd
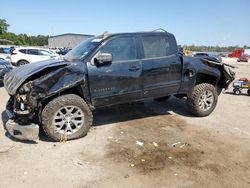
[[[112,55],[112,62],[99,64],[101,53]],[[113,37],[101,47],[88,66],[89,87],[92,104],[106,106],[140,98],[141,61],[137,58],[136,38]]]

